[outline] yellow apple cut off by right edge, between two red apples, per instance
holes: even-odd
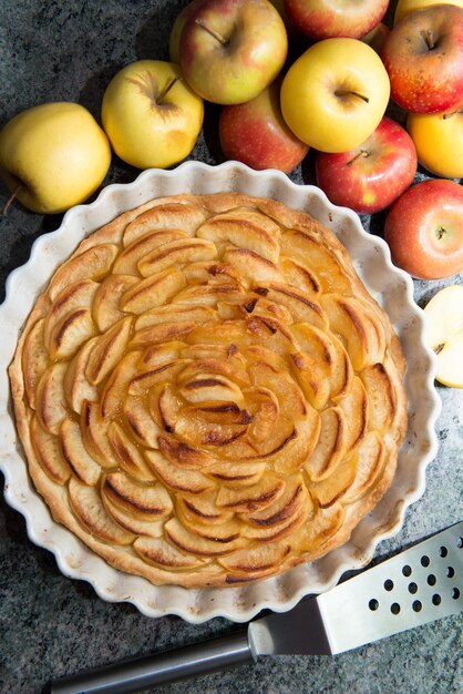
[[[407,130],[424,169],[444,178],[463,177],[463,106],[453,113],[410,113]]]

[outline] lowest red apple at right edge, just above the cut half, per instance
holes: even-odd
[[[384,225],[392,261],[413,277],[463,271],[463,188],[454,181],[416,183],[392,205]]]

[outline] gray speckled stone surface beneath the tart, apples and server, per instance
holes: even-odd
[[[2,0],[0,4],[2,126],[19,111],[45,101],[80,101],[99,118],[105,85],[121,67],[142,58],[167,58],[169,28],[185,2]],[[220,161],[216,112],[208,106],[206,134],[192,159]],[[128,182],[136,174],[114,161],[105,183]],[[310,165],[297,169],[291,178],[311,183]],[[6,198],[7,191],[0,187],[0,205]],[[56,228],[60,221],[20,206],[0,218],[0,300],[7,275],[27,261],[33,239]],[[362,221],[375,233],[381,229],[382,215]],[[441,286],[455,282],[462,283],[463,276],[415,282],[415,299],[423,305]],[[438,390],[443,401],[440,451],[428,468],[425,493],[408,510],[400,533],[380,544],[375,560],[460,520],[463,391],[440,386]],[[39,694],[51,677],[236,629],[222,619],[200,625],[177,618],[150,620],[132,605],[103,602],[89,584],[60,573],[53,557],[30,542],[22,517],[3,500],[0,533],[0,692],[4,694]],[[454,616],[335,659],[267,657],[255,666],[160,686],[156,692],[452,694],[462,690],[461,653],[461,620]]]

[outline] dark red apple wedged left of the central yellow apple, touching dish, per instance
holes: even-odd
[[[279,105],[279,82],[251,101],[224,106],[219,116],[220,145],[227,159],[251,169],[279,169],[289,173],[309,146],[285,123]]]

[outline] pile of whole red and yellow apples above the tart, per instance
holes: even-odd
[[[11,200],[62,212],[101,185],[112,151],[138,169],[172,166],[192,152],[210,102],[222,106],[227,159],[289,173],[311,150],[331,202],[387,211],[398,266],[424,279],[460,273],[463,0],[399,0],[392,29],[381,21],[388,6],[193,0],[172,28],[171,62],[137,61],[110,82],[103,127],[75,103],[42,104],[6,125],[0,173]],[[301,38],[291,62],[288,42]],[[418,163],[435,177],[412,185]]]

